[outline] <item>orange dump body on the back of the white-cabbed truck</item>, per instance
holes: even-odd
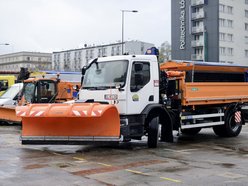
[[[187,71],[244,74],[247,67],[225,66],[213,63],[175,62],[168,61],[160,65],[166,71],[168,78],[177,80],[182,106],[215,105],[234,102],[248,102],[248,82],[186,82]]]

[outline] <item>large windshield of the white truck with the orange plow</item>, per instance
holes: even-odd
[[[83,89],[123,87],[126,82],[128,61],[97,62],[87,69]]]

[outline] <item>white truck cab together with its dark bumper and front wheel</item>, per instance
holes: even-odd
[[[123,141],[141,139],[148,134],[148,146],[157,146],[158,115],[168,114],[159,104],[159,65],[155,55],[93,60],[86,68],[79,100],[114,104],[120,115]],[[167,131],[172,131],[171,128]],[[173,140],[172,132],[166,140]]]

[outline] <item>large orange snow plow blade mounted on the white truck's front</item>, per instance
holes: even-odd
[[[120,118],[113,105],[30,104],[16,107],[22,117],[22,144],[118,142]]]

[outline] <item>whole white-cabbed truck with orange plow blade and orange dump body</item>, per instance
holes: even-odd
[[[235,137],[245,124],[247,67],[168,61],[155,55],[97,58],[84,70],[79,101],[30,104],[22,117],[23,144],[127,142],[146,135],[148,147],[173,141],[173,130],[195,135],[213,128]],[[111,72],[111,73],[110,73]],[[160,134],[160,135],[159,135]]]

